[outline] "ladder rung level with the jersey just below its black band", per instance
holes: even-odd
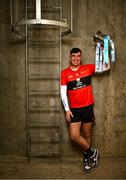
[[[59,96],[59,91],[30,91],[29,96]]]

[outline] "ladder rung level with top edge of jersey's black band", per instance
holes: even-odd
[[[56,75],[42,75],[42,74],[30,74],[30,80],[59,80],[59,77]]]

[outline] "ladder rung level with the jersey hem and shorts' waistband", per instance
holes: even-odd
[[[55,108],[54,107],[53,108],[30,107],[29,111],[32,111],[32,112],[60,112],[59,108],[56,108],[56,107]]]

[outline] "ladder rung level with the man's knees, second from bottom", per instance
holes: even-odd
[[[31,144],[36,143],[59,143],[59,138],[39,138],[39,139],[31,139]]]

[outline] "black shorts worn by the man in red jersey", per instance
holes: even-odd
[[[88,123],[94,121],[93,105],[82,108],[71,108],[74,117],[71,117],[71,123],[82,122]]]

